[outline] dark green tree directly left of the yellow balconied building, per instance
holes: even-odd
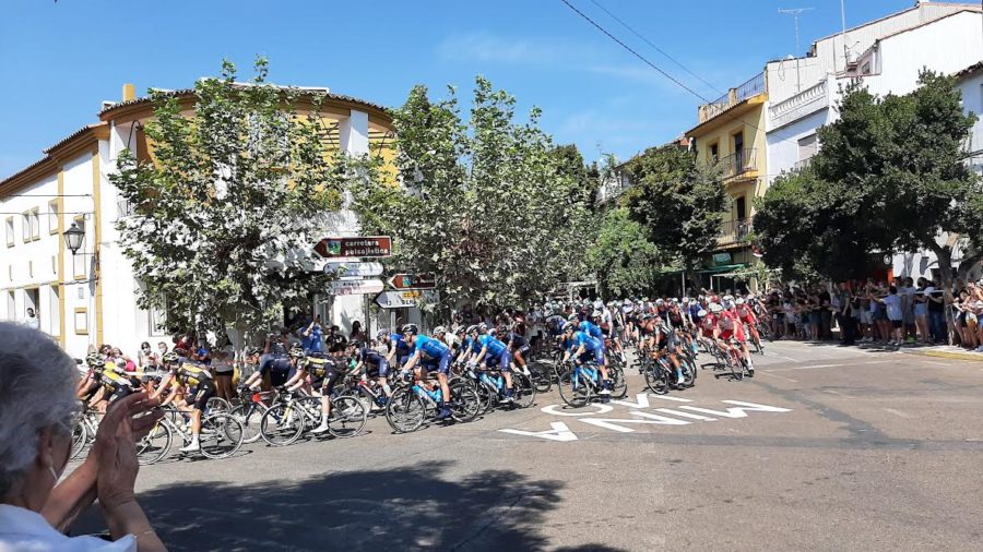
[[[727,207],[718,171],[676,145],[647,149],[625,170],[632,185],[623,202],[631,219],[667,259],[694,271],[716,248]]]

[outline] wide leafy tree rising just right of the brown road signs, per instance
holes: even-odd
[[[575,244],[592,197],[573,152],[554,147],[538,109],[526,122],[514,109],[482,77],[466,121],[453,88],[431,100],[416,86],[393,112],[401,185],[353,189],[363,226],[394,236],[390,263],[435,273],[445,304],[519,304],[584,265]]]

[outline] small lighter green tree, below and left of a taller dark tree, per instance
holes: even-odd
[[[659,249],[624,207],[605,213],[588,259],[605,297],[647,295],[660,266]]]

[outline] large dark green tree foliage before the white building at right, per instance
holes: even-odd
[[[951,280],[960,235],[983,257],[983,188],[962,161],[974,122],[951,77],[923,71],[919,88],[877,97],[844,91],[840,118],[818,132],[808,170],[780,177],[759,202],[755,231],[772,266],[805,263],[831,278],[868,274],[872,257],[927,249]]]

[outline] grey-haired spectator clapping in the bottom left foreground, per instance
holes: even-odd
[[[75,363],[49,337],[0,322],[0,551],[166,550],[137,503],[135,440],[159,413],[138,393],[117,400],[99,424],[88,457],[68,465],[75,398]],[[112,541],[67,537],[95,499]]]

